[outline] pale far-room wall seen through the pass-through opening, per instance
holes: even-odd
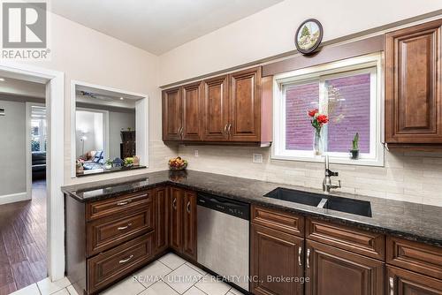
[[[119,158],[119,144],[121,143],[121,129],[130,127],[135,130],[135,110],[133,112],[109,112],[109,148],[110,159]],[[136,132],[136,130],[135,130]]]

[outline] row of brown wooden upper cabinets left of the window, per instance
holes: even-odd
[[[256,67],[164,90],[163,140],[270,145],[272,78],[261,75]]]

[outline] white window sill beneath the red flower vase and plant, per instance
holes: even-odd
[[[302,156],[293,156],[293,155],[271,155],[271,160],[282,160],[282,161],[293,161],[293,162],[310,162],[310,163],[324,163],[324,155],[316,155],[312,157],[302,157]],[[381,159],[363,159],[360,158],[358,160],[352,160],[350,157],[342,158],[342,157],[333,157],[329,158],[330,163],[334,164],[342,164],[342,165],[355,165],[355,166],[375,166],[375,167],[384,167],[384,157]]]

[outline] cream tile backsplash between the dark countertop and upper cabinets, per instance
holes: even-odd
[[[263,154],[263,163],[253,163],[253,154]],[[179,146],[179,155],[191,170],[241,178],[318,189],[324,178],[324,163],[272,160],[270,147]],[[331,170],[341,192],[442,207],[442,153],[385,150],[385,167],[331,163]]]

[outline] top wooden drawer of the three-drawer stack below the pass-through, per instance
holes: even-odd
[[[152,193],[150,191],[126,193],[108,200],[93,201],[86,205],[86,219],[90,221],[104,216],[126,213],[127,210],[146,207],[151,202]]]

